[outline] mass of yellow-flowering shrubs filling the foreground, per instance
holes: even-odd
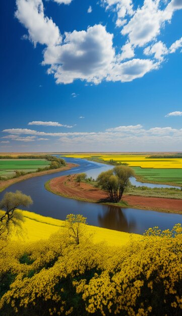
[[[182,228],[123,247],[48,240],[0,252],[0,314],[164,316],[182,312]]]

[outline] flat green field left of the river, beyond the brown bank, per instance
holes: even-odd
[[[38,168],[45,168],[51,162],[45,159],[1,159],[0,176],[10,178],[16,175],[16,170],[25,173],[34,172]]]

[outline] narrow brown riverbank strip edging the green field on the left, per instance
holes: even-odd
[[[51,174],[51,173],[69,170],[69,169],[72,169],[72,168],[77,167],[77,166],[78,166],[77,164],[68,163],[67,166],[64,166],[61,168],[44,170],[44,171],[37,171],[34,173],[28,173],[28,174],[20,176],[18,178],[1,180],[0,181],[0,192],[2,192],[3,190],[5,190],[7,187],[9,187],[10,185],[12,185],[14,183],[21,182],[21,181],[27,180],[29,178],[34,178],[34,177],[39,177],[39,176],[43,176],[43,175],[47,175],[47,174]]]

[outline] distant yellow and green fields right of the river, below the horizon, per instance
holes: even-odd
[[[118,163],[127,163],[145,182],[171,183],[182,186],[182,158],[150,158],[150,154],[65,154],[74,158],[83,158],[109,163],[112,159]]]

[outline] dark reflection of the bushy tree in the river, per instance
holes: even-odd
[[[108,210],[104,211],[103,216],[98,215],[100,227],[118,230],[121,232],[134,232],[136,222],[132,220],[128,223],[123,210],[117,206],[108,206]]]

